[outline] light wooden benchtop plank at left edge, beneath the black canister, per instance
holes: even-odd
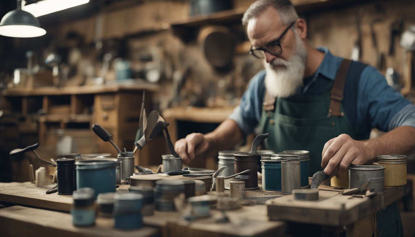
[[[30,182],[0,183],[0,201],[69,212],[72,195],[46,194],[54,185],[38,187]]]

